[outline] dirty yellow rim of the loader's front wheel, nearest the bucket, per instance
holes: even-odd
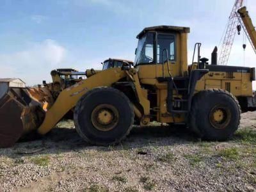
[[[92,124],[99,131],[114,129],[118,120],[118,110],[110,104],[100,104],[92,111]]]

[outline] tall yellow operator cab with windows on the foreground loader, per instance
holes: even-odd
[[[188,74],[187,38],[189,28],[154,26],[138,35],[134,67],[140,79],[186,76]],[[154,84],[154,82],[150,81]],[[150,84],[151,84],[150,83]]]

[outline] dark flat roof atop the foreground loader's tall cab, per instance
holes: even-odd
[[[190,28],[178,27],[178,26],[153,26],[149,28],[144,28],[137,35],[137,38],[141,38],[141,36],[145,35],[145,33],[147,33],[148,31],[189,33]]]

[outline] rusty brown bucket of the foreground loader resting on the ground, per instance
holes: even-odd
[[[32,99],[28,88],[10,88],[0,83],[0,148],[11,147],[36,130],[44,120],[42,104]]]

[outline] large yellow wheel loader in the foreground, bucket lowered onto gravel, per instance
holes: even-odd
[[[205,140],[227,140],[237,130],[241,111],[255,110],[255,68],[211,64],[195,44],[188,65],[189,28],[154,26],[138,38],[134,68],[53,70],[52,83],[12,88],[0,83],[0,147],[10,147],[28,132],[44,135],[69,111],[78,134],[93,145],[124,140],[134,119],[184,125]],[[61,76],[86,76],[63,84]],[[159,128],[161,129],[161,128]]]

